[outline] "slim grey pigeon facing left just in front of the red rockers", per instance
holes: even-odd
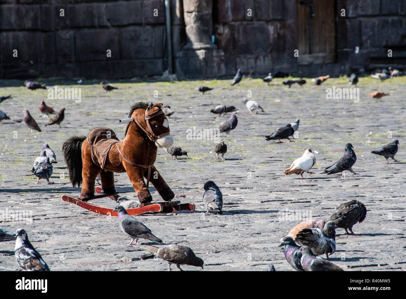
[[[162,245],[162,240],[151,233],[151,229],[143,225],[136,218],[127,213],[121,205],[116,205],[112,212],[117,212],[119,214],[119,224],[120,228],[124,234],[131,238],[131,242],[125,245],[132,245],[132,242],[135,240],[137,244],[138,239],[151,240],[157,244]]]

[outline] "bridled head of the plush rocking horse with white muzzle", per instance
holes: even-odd
[[[133,118],[133,122],[147,135],[149,140],[155,142],[156,146],[170,148],[173,144],[173,137],[162,106],[162,103],[138,102],[131,107],[128,116]],[[125,133],[127,133],[129,125]]]

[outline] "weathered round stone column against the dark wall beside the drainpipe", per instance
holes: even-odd
[[[187,44],[183,50],[217,49],[212,43],[213,0],[183,0]]]

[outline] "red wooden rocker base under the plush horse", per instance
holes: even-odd
[[[96,187],[95,188],[95,197],[93,199],[109,197],[110,199],[117,201],[119,196],[117,195],[119,192],[113,195],[107,195],[100,193],[102,188]],[[86,201],[82,201],[80,197],[73,197],[68,194],[63,194],[61,196],[62,201],[67,203],[73,203],[85,210],[90,212],[101,214],[101,215],[110,215],[110,216],[117,216],[117,212],[113,212],[113,209],[108,207],[103,207],[100,205],[93,205],[92,203],[88,203]],[[163,201],[158,203],[145,203],[139,204],[138,207],[127,209],[127,213],[130,215],[140,215],[144,213],[154,212],[154,213],[171,213],[176,211],[194,211],[195,205],[194,203],[180,203],[180,201]]]

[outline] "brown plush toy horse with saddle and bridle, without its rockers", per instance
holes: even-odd
[[[87,137],[72,136],[64,142],[62,151],[73,187],[79,187],[83,181],[80,199],[88,201],[94,197],[99,174],[103,192],[114,194],[114,172],[127,172],[140,203],[152,201],[149,181],[164,201],[173,199],[175,194],[153,166],[157,146],[169,148],[173,144],[161,108],[162,103],[135,103],[128,115],[132,121],[128,122],[121,142],[111,129],[104,127],[93,129]]]

